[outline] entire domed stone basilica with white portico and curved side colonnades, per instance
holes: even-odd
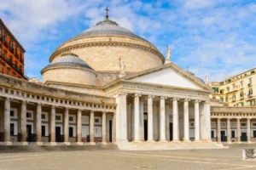
[[[207,82],[171,55],[170,47],[165,58],[107,13],[56,48],[43,83],[0,74],[1,144],[174,150],[251,143],[256,109],[211,100]]]

